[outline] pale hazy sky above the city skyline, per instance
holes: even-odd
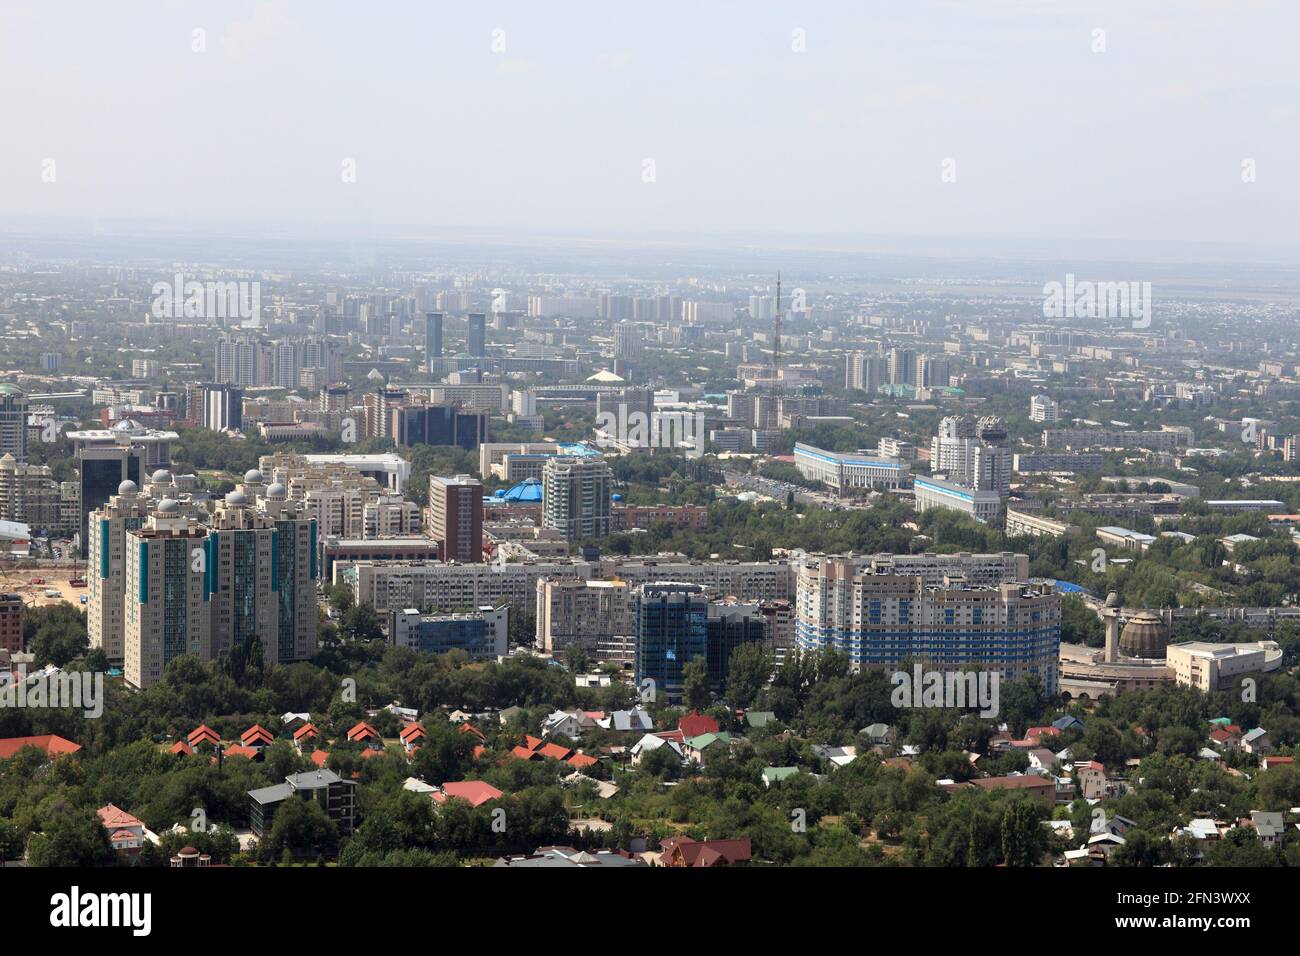
[[[1297,36],[1296,0],[4,0],[0,229],[1290,245]]]

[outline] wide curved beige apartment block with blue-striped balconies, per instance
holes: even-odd
[[[919,578],[861,574],[824,558],[798,575],[796,644],[836,650],[854,669],[996,670],[1004,682],[1036,674],[1056,692],[1061,596],[1050,584],[928,587]]]

